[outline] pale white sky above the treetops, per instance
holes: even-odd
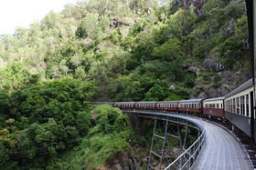
[[[14,34],[18,26],[41,21],[49,11],[59,12],[78,0],[0,0],[0,35]]]

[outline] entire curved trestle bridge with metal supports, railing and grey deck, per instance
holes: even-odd
[[[192,115],[149,110],[123,110],[140,119],[155,119],[147,169],[165,170],[251,170],[253,164],[240,140],[227,129]],[[176,125],[176,132],[170,124]],[[140,124],[140,123],[138,123]],[[157,126],[161,125],[161,129]],[[180,125],[183,125],[181,130]],[[187,145],[187,129],[197,130],[197,139]],[[184,132],[184,129],[186,131]],[[182,131],[182,132],[181,132]],[[170,148],[170,140],[179,141],[180,150]],[[159,148],[161,145],[161,148]],[[177,155],[177,152],[179,155]],[[157,165],[155,165],[155,160]]]

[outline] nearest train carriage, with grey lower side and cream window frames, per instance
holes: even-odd
[[[255,136],[253,128],[255,121],[253,113],[252,79],[226,95],[224,104],[225,117],[229,122],[239,127],[245,134],[251,137]]]

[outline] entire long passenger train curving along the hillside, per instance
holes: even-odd
[[[219,119],[255,141],[255,112],[253,105],[252,79],[231,91],[228,95],[215,98],[199,98],[176,101],[105,102],[121,110],[154,110],[193,114],[200,117]]]

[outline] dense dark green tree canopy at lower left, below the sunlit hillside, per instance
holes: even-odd
[[[84,109],[94,93],[93,83],[70,78],[24,86],[10,95],[3,90],[1,166],[45,168],[79,145],[91,127]]]

